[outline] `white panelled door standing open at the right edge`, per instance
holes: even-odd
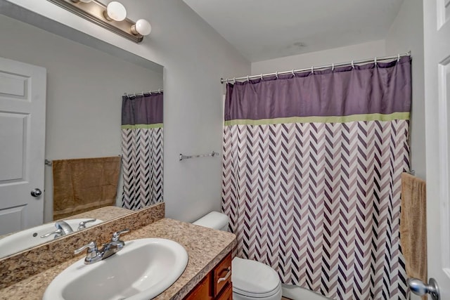
[[[424,0],[423,15],[428,278],[450,299],[450,0]]]

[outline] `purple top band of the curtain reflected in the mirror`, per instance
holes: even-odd
[[[122,126],[162,124],[163,93],[122,97]]]

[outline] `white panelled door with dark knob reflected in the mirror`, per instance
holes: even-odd
[[[0,235],[43,221],[45,104],[46,69],[0,58]]]

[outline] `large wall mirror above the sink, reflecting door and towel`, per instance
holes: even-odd
[[[163,67],[54,21],[34,27],[42,17],[27,11],[1,13],[0,235],[75,218],[76,232],[162,202]]]

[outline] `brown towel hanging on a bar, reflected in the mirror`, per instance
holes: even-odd
[[[120,157],[53,160],[53,220],[115,204]]]

